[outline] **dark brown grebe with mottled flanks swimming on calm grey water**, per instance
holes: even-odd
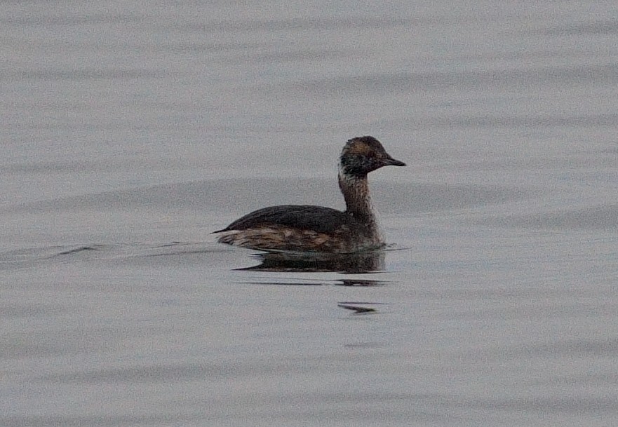
[[[346,210],[271,206],[213,233],[220,233],[220,243],[263,250],[352,253],[380,248],[384,238],[371,205],[367,174],[389,165],[405,163],[389,156],[374,137],[352,138],[339,158],[339,188]]]

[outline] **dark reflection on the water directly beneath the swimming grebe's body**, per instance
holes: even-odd
[[[384,251],[356,254],[323,254],[302,252],[261,252],[253,255],[260,261],[257,266],[239,270],[249,271],[292,271],[292,272],[338,272],[370,273],[384,270]],[[358,286],[354,280],[352,286]]]

